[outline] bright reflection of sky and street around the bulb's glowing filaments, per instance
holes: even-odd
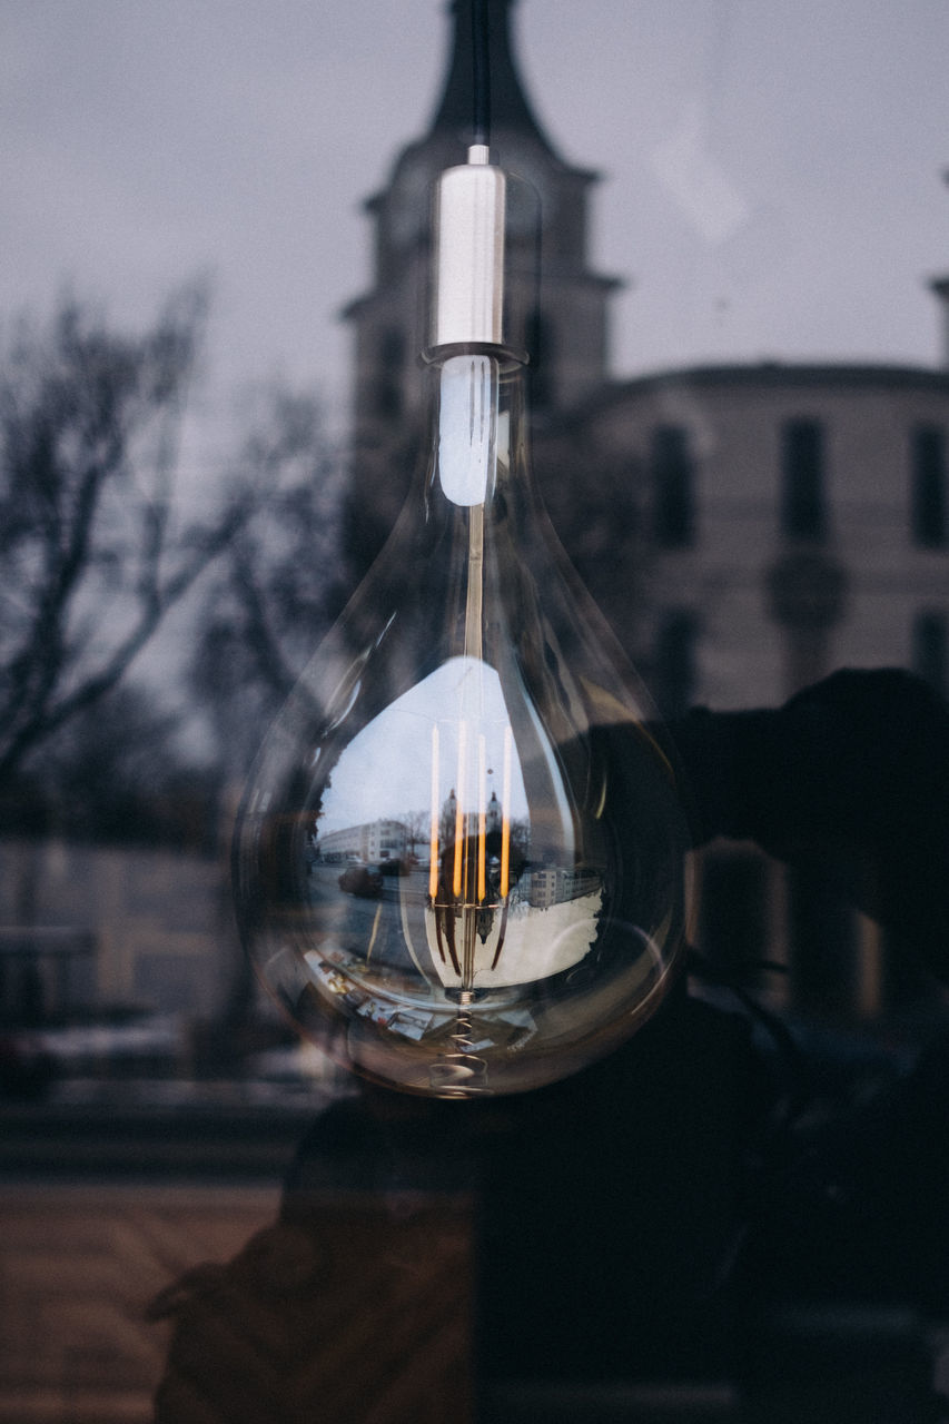
[[[527,729],[517,745],[493,668],[453,658],[343,750],[315,813],[311,879],[325,894],[326,867],[346,860],[343,890],[378,897],[370,927],[336,946],[351,975],[379,990],[405,951],[426,984],[460,997],[550,978],[590,951],[600,877],[577,864],[553,748]],[[533,827],[527,783],[539,782],[556,815]]]

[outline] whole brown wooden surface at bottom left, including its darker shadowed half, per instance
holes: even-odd
[[[467,1208],[333,1198],[275,1229],[278,1205],[0,1188],[0,1424],[466,1424]],[[215,1262],[232,1265],[170,1290]],[[148,1316],[162,1292],[174,1343]]]

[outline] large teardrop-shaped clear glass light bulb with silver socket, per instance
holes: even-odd
[[[291,1018],[440,1096],[621,1042],[675,974],[688,900],[671,755],[531,483],[509,182],[486,159],[440,182],[427,466],[271,729],[234,843],[244,941]]]

